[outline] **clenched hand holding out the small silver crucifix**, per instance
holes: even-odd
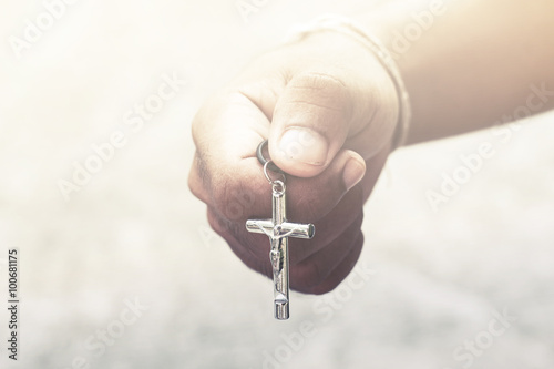
[[[289,238],[290,287],[334,289],[363,244],[362,206],[391,151],[394,85],[376,57],[347,35],[314,33],[256,60],[199,110],[189,187],[211,226],[250,268],[271,277],[267,236],[247,218],[269,218],[271,191],[256,147],[287,173],[287,217],[314,223],[311,240]]]

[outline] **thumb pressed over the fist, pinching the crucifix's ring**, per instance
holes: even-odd
[[[352,105],[346,84],[335,76],[317,72],[294,76],[275,105],[268,144],[271,160],[299,177],[324,172],[345,144]],[[361,156],[351,156],[359,160],[361,170]]]

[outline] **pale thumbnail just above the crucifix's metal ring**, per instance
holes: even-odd
[[[315,131],[294,127],[285,131],[280,137],[279,150],[288,160],[310,165],[325,165],[329,144]]]

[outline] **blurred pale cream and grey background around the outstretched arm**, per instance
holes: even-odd
[[[378,2],[247,2],[248,22],[233,0],[80,0],[17,58],[9,38],[44,4],[1,1],[0,367],[553,368],[553,114],[505,141],[485,130],[394,153],[365,208],[368,278],[293,294],[291,319],[273,319],[271,283],[209,230],[187,188],[191,120],[293,24]],[[141,130],[125,125],[173,74],[186,85]],[[59,181],[115,131],[125,145],[65,201]],[[483,142],[495,155],[433,211],[427,192]],[[12,247],[18,362],[4,348]],[[122,325],[130,301],[147,309]],[[494,311],[516,320],[489,341]],[[468,357],[475,339],[486,349]]]

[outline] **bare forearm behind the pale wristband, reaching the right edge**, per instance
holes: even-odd
[[[418,22],[414,13],[431,18]],[[552,14],[551,0],[424,0],[365,18],[394,54],[411,96],[408,144],[553,109]],[[530,101],[541,88],[548,92]]]

